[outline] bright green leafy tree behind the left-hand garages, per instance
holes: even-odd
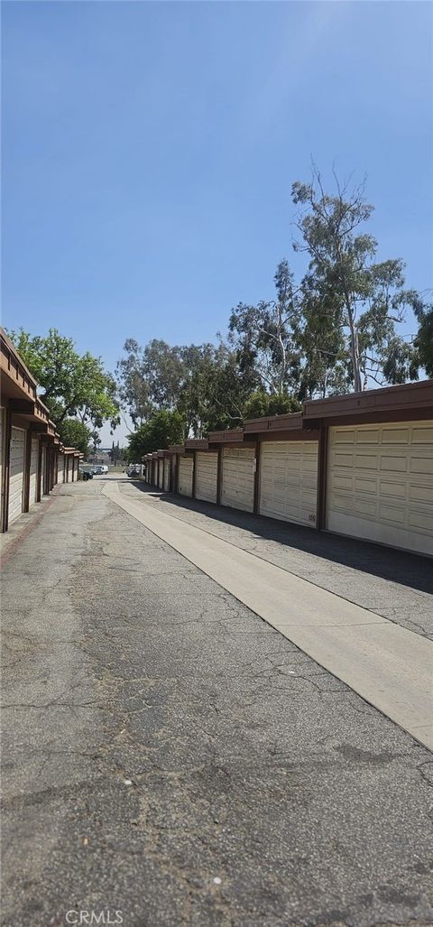
[[[8,335],[42,389],[41,400],[57,427],[75,416],[94,428],[105,421],[112,427],[119,424],[116,384],[100,358],[88,351],[80,355],[72,339],[60,335],[57,328],[50,328],[46,337],[32,336],[22,328]]]

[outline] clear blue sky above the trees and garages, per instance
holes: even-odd
[[[2,7],[6,326],[111,370],[126,337],[213,340],[278,260],[302,272],[312,156],[367,174],[380,257],[431,286],[429,4]]]

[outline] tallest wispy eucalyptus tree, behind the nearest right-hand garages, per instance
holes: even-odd
[[[416,294],[404,289],[400,259],[376,262],[376,239],[363,230],[373,212],[363,184],[341,187],[336,177],[329,195],[314,169],[311,184],[293,184],[292,198],[301,210],[294,247],[309,259],[299,324],[306,391],[314,380],[325,393],[416,377],[414,348],[396,328]]]

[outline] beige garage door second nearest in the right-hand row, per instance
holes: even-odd
[[[317,441],[262,441],[260,514],[313,527]]]

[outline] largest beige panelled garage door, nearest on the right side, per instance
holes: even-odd
[[[433,422],[329,429],[327,527],[433,554]]]

